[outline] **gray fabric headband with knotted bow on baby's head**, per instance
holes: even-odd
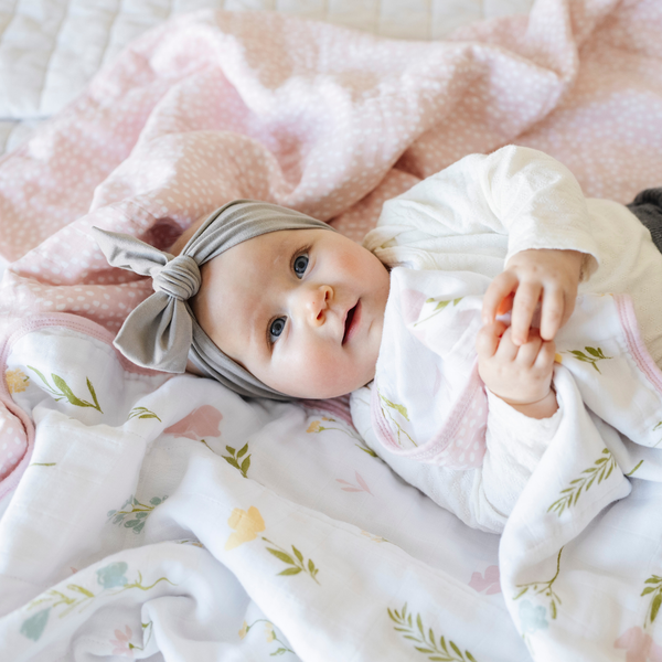
[[[289,399],[222,352],[197,323],[188,300],[200,289],[200,267],[228,248],[280,229],[333,229],[306,214],[250,200],[235,200],[207,216],[177,257],[132,237],[93,227],[114,267],[151,276],[154,293],[127,317],[114,341],[142,367],[183,373],[186,360],[205,376],[252,397]]]

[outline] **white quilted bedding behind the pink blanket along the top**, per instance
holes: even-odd
[[[0,0],[0,154],[63,108],[131,40],[175,13],[266,10],[398,39],[444,39],[533,0]]]

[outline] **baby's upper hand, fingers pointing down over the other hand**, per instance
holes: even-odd
[[[512,341],[523,345],[542,300],[540,334],[554,340],[575,309],[583,253],[532,249],[511,257],[503,274],[492,280],[483,299],[483,324],[512,309]]]

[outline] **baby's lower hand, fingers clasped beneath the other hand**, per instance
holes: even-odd
[[[548,418],[556,412],[554,341],[543,340],[537,329],[531,329],[528,340],[517,346],[512,327],[496,321],[479,331],[476,349],[478,372],[495,396],[531,418]]]

